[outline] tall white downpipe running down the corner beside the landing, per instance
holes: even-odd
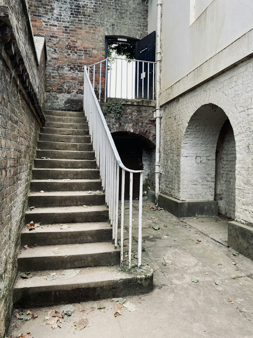
[[[163,0],[157,0],[157,74],[156,74],[156,203],[160,193],[160,144],[161,144],[161,61],[162,61],[162,4]]]

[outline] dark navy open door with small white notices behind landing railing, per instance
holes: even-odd
[[[140,61],[156,61],[156,31],[137,41],[135,59]],[[153,99],[154,64],[136,62],[135,65],[135,98]]]

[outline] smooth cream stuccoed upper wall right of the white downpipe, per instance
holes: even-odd
[[[153,29],[154,0],[149,1],[149,31]],[[253,28],[252,0],[164,0],[162,19],[162,93],[214,55],[220,65],[216,73],[228,67],[224,53],[220,53]],[[250,47],[249,47],[250,49]],[[244,46],[244,56],[251,50]],[[240,53],[238,48],[233,53]],[[238,57],[241,57],[239,55]],[[202,77],[212,76],[206,69]],[[205,75],[205,76],[204,76]],[[199,79],[201,81],[202,79]],[[193,81],[194,82],[194,81]],[[188,90],[180,88],[180,92]],[[189,87],[189,86],[188,86]],[[162,104],[174,95],[162,94]]]

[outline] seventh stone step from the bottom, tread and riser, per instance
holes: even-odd
[[[44,169],[34,168],[33,179],[97,179],[100,178],[99,169]]]

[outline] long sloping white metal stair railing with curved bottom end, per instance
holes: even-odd
[[[124,192],[125,172],[130,173],[129,196],[129,268],[131,268],[132,250],[132,208],[133,208],[133,173],[140,175],[139,195],[139,228],[138,228],[138,267],[141,265],[142,242],[142,184],[143,170],[126,168],[118,154],[110,130],[96,98],[89,79],[87,67],[84,67],[84,100],[83,110],[89,125],[91,142],[95,152],[96,163],[100,168],[102,187],[105,191],[106,204],[109,207],[109,218],[112,225],[112,239],[117,247],[118,233],[118,203],[119,203],[119,168],[122,169],[121,180],[121,224],[120,224],[120,264],[123,264],[123,230],[124,230]]]

